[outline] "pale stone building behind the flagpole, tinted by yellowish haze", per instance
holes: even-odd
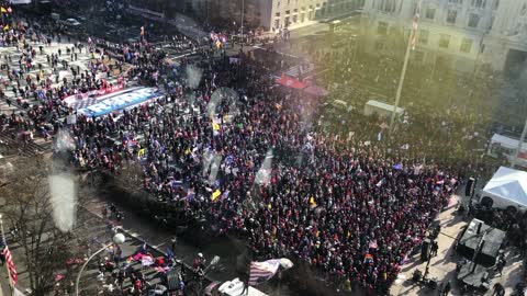
[[[367,0],[362,30],[365,46],[393,50],[390,38],[406,45],[418,0]],[[422,0],[414,62],[475,71],[480,65],[496,71],[517,71],[527,55],[527,1]],[[399,53],[397,53],[399,54]]]

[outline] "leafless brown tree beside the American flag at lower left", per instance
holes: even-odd
[[[25,264],[33,295],[53,291],[54,274],[64,271],[72,250],[72,235],[54,224],[47,179],[51,171],[51,162],[42,156],[21,159],[10,177],[12,182],[0,189],[7,200],[2,213],[5,224],[13,229],[14,242],[24,255],[15,260]]]

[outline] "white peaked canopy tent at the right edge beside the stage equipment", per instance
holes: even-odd
[[[527,172],[500,167],[480,193],[482,201],[490,197],[493,207],[527,208]]]

